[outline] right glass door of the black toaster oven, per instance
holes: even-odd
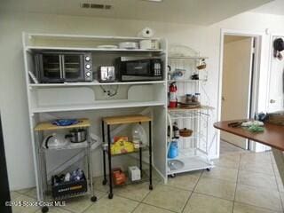
[[[83,81],[83,55],[62,55],[63,78],[66,82]]]

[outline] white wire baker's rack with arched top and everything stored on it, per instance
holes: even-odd
[[[168,175],[210,170],[209,117],[213,107],[203,89],[208,74],[207,57],[191,48],[175,45],[169,50]],[[204,95],[204,96],[203,96]]]

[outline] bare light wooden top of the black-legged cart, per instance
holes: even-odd
[[[103,122],[106,122],[107,125],[127,124],[127,123],[133,123],[133,122],[150,122],[150,121],[152,121],[151,117],[141,115],[141,114],[103,118]]]

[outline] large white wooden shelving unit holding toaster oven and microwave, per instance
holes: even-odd
[[[53,35],[53,34],[28,34],[23,33],[23,53],[26,71],[26,83],[28,92],[28,114],[30,122],[31,141],[33,146],[37,200],[43,200],[43,190],[40,185],[43,180],[40,176],[40,156],[38,150],[42,140],[35,134],[36,123],[46,122],[44,118],[81,117],[81,114],[91,120],[91,129],[100,128],[96,123],[101,117],[109,114],[109,109],[114,109],[113,114],[125,114],[125,108],[139,110],[138,107],[147,107],[153,118],[153,162],[154,169],[162,177],[167,176],[166,153],[167,140],[166,117],[167,117],[167,80],[166,67],[168,65],[167,41],[162,38],[158,40],[160,50],[125,50],[125,49],[101,49],[98,45],[118,44],[120,42],[139,42],[145,38],[122,37],[122,36],[78,36],[78,35]],[[121,56],[145,56],[159,57],[163,62],[162,81],[149,82],[115,82],[99,83],[95,79],[91,83],[34,83],[28,71],[35,72],[34,52],[36,51],[91,51],[93,71],[99,65],[111,66],[114,59]],[[94,75],[96,78],[96,74]],[[117,95],[108,97],[101,87],[108,90],[117,89]],[[99,111],[100,117],[94,117],[94,112]],[[47,116],[45,116],[47,115]],[[99,131],[100,132],[100,131]],[[69,147],[72,151],[72,147]],[[47,159],[48,162],[48,159]],[[94,189],[96,190],[96,189]]]

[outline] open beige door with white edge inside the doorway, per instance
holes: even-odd
[[[253,37],[225,36],[221,120],[248,118]],[[247,149],[248,140],[221,131],[221,139]]]

